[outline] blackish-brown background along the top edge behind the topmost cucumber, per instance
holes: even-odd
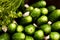
[[[39,0],[26,0],[25,3],[32,4],[37,1]],[[47,6],[55,5],[57,8],[60,8],[60,0],[45,0],[45,1],[47,2]]]

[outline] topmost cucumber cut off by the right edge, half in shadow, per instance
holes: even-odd
[[[60,17],[60,9],[54,10],[49,16],[49,20],[55,22]]]

